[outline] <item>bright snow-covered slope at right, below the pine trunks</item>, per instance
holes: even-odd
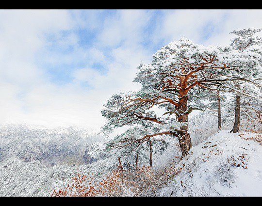
[[[174,165],[160,196],[262,196],[261,134],[219,131]]]

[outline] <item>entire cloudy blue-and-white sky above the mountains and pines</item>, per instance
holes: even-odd
[[[187,37],[227,45],[262,10],[0,10],[0,124],[93,127],[139,63]]]

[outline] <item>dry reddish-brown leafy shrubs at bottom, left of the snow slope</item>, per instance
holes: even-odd
[[[102,180],[77,174],[63,189],[54,189],[51,196],[141,196],[146,190],[154,191],[157,178],[151,167],[142,166],[135,170],[114,170]]]

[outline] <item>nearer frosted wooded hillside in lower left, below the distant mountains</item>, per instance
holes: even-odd
[[[49,196],[77,172],[91,173],[89,165],[45,167],[40,161],[24,162],[17,157],[0,161],[0,196]]]

